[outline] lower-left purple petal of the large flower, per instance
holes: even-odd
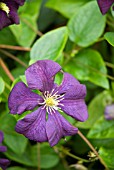
[[[30,140],[37,142],[47,141],[46,135],[46,110],[42,107],[28,114],[16,124],[15,130]]]

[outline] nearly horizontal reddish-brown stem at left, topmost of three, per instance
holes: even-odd
[[[12,45],[5,45],[5,44],[0,44],[0,48],[10,49],[10,50],[19,50],[19,51],[30,51],[31,50],[31,48],[28,48],[28,47],[12,46]]]

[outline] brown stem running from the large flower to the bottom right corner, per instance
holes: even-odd
[[[107,165],[105,164],[104,160],[99,156],[98,152],[95,150],[93,145],[89,142],[89,140],[78,130],[78,135],[86,142],[86,144],[91,148],[94,154],[99,158],[102,165],[105,167],[106,170],[109,170]]]

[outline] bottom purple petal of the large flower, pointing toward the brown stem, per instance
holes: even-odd
[[[46,133],[50,146],[56,145],[64,136],[76,134],[77,128],[73,127],[62,115],[57,111],[48,115],[46,122]]]

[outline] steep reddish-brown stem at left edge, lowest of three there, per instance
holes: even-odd
[[[4,61],[2,60],[2,58],[0,58],[0,65],[3,68],[3,70],[5,71],[5,73],[7,74],[7,76],[9,77],[9,79],[11,81],[14,81],[14,77],[11,74],[11,72],[9,71],[9,69],[7,68],[6,64],[4,63]]]

